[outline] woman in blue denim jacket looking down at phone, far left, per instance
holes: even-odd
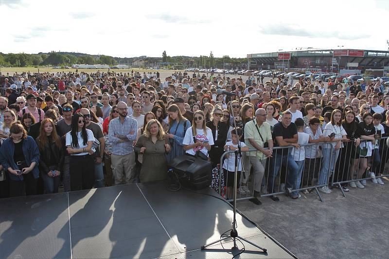
[[[0,163],[7,170],[10,196],[36,194],[39,178],[39,149],[19,121],[9,129],[9,138],[0,147]]]

